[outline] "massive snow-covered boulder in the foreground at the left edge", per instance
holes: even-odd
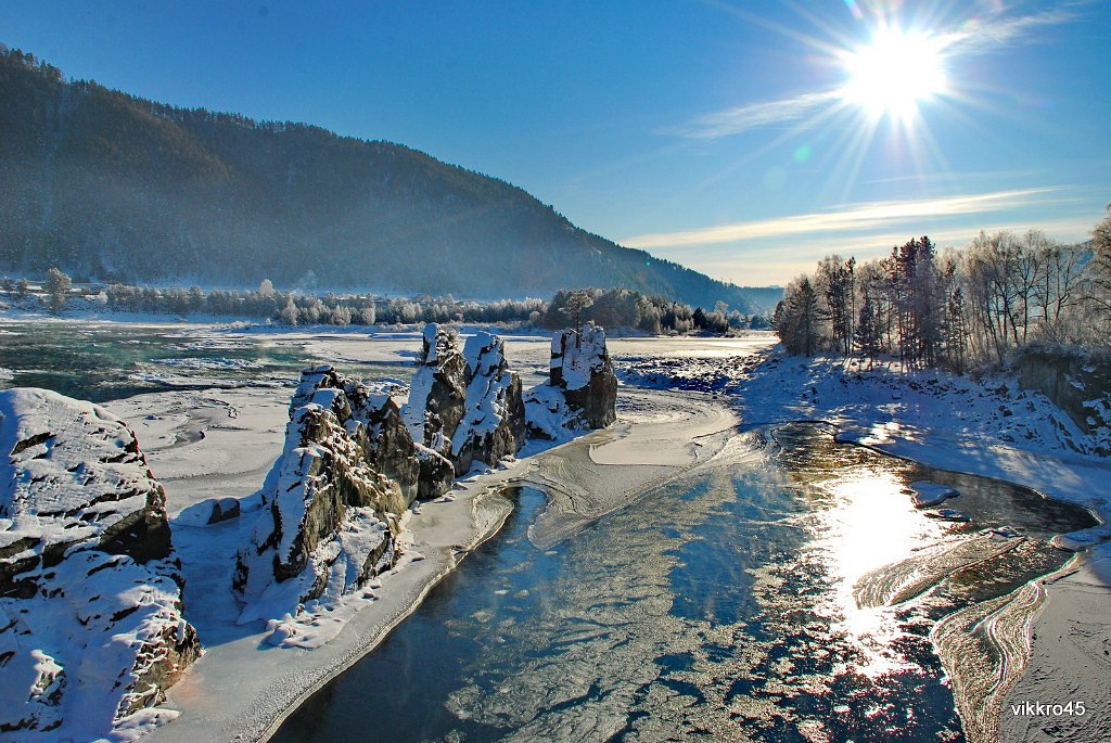
[[[47,390],[0,392],[0,731],[142,731],[200,654],[166,492],[134,433]],[[41,737],[40,737],[41,735]]]

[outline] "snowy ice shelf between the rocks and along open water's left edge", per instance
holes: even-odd
[[[247,515],[258,508],[251,494],[281,449],[284,395],[267,389],[176,391],[109,404],[134,422],[151,469],[164,473],[184,565],[184,603],[207,649],[169,690],[166,706],[177,719],[143,741],[264,740],[498,531],[512,508],[499,494],[507,484],[536,482],[560,493],[549,503],[544,523],[553,528],[543,536],[558,541],[703,461],[713,453],[717,434],[738,423],[721,400],[622,388],[615,426],[554,449],[533,442],[509,466],[467,478],[448,496],[420,504],[407,516],[408,556],[396,570],[332,615],[317,618],[301,646],[274,647],[266,627],[234,624],[231,570],[251,519],[213,525],[207,520],[221,498],[238,499]]]

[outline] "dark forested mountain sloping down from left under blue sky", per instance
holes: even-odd
[[[2,47],[0,131],[0,271],[471,298],[625,287],[755,309],[423,152],[148,101]]]

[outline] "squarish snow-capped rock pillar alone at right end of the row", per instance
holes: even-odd
[[[601,328],[583,325],[581,338],[573,330],[557,331],[549,375],[587,428],[605,428],[617,420],[618,378]]]

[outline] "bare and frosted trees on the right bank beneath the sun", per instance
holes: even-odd
[[[914,238],[863,263],[830,255],[788,285],[772,327],[795,354],[883,354],[957,372],[1032,344],[1107,345],[1111,217],[1083,244],[1030,230],[981,232],[961,250]]]

